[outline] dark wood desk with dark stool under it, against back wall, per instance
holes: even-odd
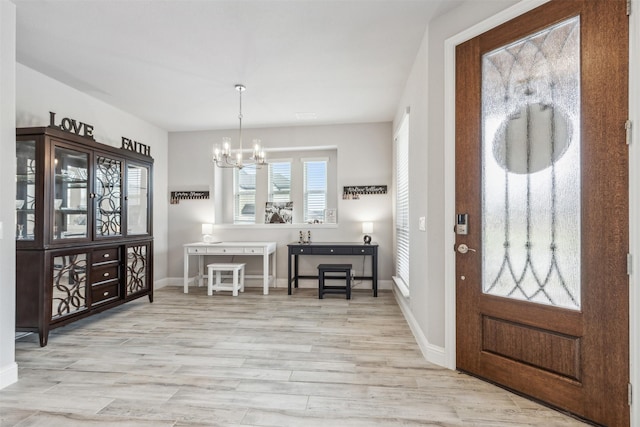
[[[373,288],[373,296],[378,296],[378,245],[371,243],[365,245],[363,243],[336,243],[336,242],[319,242],[319,243],[289,243],[288,279],[287,286],[289,295],[291,295],[291,284],[297,288],[298,279],[318,279],[318,276],[301,276],[298,273],[298,257],[301,255],[341,255],[345,256],[370,256],[371,257],[371,276],[356,276],[356,280],[371,280]],[[293,263],[291,262],[293,260]],[[340,261],[342,262],[342,260]]]

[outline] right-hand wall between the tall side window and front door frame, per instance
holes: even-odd
[[[468,0],[431,22],[398,104],[393,128],[407,107],[409,121],[410,297],[398,295],[427,358],[446,365],[446,243],[453,233],[445,216],[445,40],[517,3],[516,0]],[[452,78],[453,76],[446,76]],[[425,190],[426,189],[426,190]],[[418,218],[426,217],[426,233]]]

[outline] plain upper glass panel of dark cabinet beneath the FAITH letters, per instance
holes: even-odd
[[[149,168],[127,165],[127,234],[149,234]]]

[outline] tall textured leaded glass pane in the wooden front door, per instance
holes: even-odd
[[[580,20],[482,58],[482,287],[580,309]]]

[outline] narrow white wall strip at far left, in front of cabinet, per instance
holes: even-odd
[[[0,0],[0,389],[18,380],[15,363],[15,5]]]

